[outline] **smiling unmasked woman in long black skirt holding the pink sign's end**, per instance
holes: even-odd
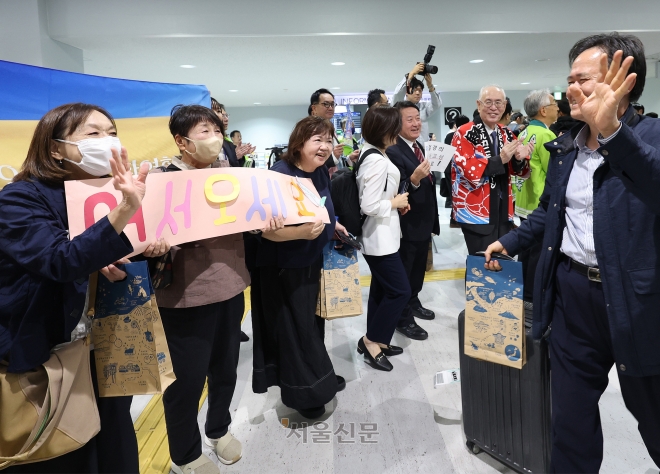
[[[287,152],[271,168],[291,176],[292,186],[301,186],[297,178],[311,179],[321,200],[309,210],[325,206],[330,224],[319,219],[263,235],[252,274],[252,389],[266,393],[268,387],[279,386],[284,405],[306,418],[323,415],[324,405],[346,386],[335,375],[323,342],[325,320],[316,316],[323,247],[335,231],[347,233],[335,220],[324,166],[332,153],[333,133],[328,120],[302,119],[291,133]]]

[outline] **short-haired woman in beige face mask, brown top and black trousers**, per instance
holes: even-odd
[[[211,109],[201,105],[175,107],[170,132],[181,156],[154,172],[229,166],[228,160],[218,160],[224,128]],[[281,221],[272,225],[282,227]],[[219,470],[202,454],[197,423],[207,377],[204,442],[224,464],[233,464],[242,456],[241,443],[229,432],[229,406],[236,386],[245,311],[243,290],[250,284],[243,235],[175,245],[171,252],[172,283],[156,290],[156,300],[177,376],[163,395],[172,470],[211,474]]]

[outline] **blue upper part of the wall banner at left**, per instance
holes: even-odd
[[[0,61],[0,120],[39,120],[69,102],[100,105],[116,119],[169,117],[177,104],[211,106],[205,86],[113,79]]]

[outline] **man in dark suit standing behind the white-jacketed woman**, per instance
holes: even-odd
[[[433,319],[433,311],[422,307],[418,294],[424,285],[424,273],[428,259],[431,234],[440,233],[438,201],[435,195],[435,179],[431,165],[424,159],[424,145],[417,141],[422,131],[419,108],[410,101],[396,104],[401,113],[402,127],[396,145],[387,149],[387,156],[401,173],[401,188],[407,186],[410,211],[400,218],[401,246],[399,255],[408,274],[411,297],[401,315],[397,331],[411,339],[429,337],[415,322]],[[403,189],[401,189],[404,192]]]

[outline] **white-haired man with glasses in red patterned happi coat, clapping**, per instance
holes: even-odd
[[[481,89],[479,115],[454,134],[452,202],[470,255],[485,250],[513,225],[511,175],[527,178],[531,147],[498,122],[506,107],[504,90]]]

